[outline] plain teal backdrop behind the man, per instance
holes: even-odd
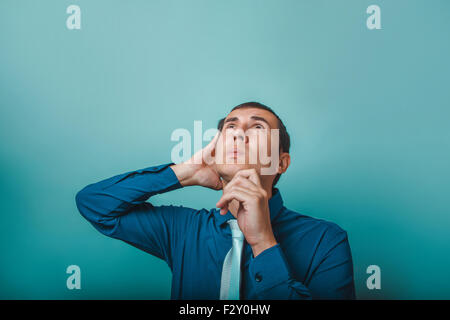
[[[286,206],[348,231],[358,298],[449,299],[449,32],[447,0],[2,0],[0,298],[169,299],[166,263],[95,231],[75,194],[259,101],[292,137]]]

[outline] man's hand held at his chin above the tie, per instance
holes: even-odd
[[[223,195],[216,206],[220,214],[228,212],[230,203],[239,203],[237,221],[253,256],[277,244],[270,223],[269,199],[262,188],[255,169],[238,171],[233,179],[223,188]]]

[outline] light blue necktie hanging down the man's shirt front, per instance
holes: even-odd
[[[233,246],[225,256],[220,283],[220,300],[239,300],[241,284],[241,256],[244,234],[236,219],[228,220],[231,228]]]

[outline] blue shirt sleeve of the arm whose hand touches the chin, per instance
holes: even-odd
[[[259,299],[354,299],[353,263],[347,234],[328,243],[325,254],[306,286],[295,279],[279,244],[264,250],[250,264]]]

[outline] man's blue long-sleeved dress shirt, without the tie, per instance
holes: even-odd
[[[232,246],[226,221],[234,216],[216,208],[146,202],[182,187],[170,165],[90,184],[76,195],[78,210],[104,235],[166,261],[173,276],[171,299],[219,299],[223,261]],[[253,257],[244,241],[241,299],[354,299],[346,231],[287,209],[278,189],[269,209],[277,244]]]

